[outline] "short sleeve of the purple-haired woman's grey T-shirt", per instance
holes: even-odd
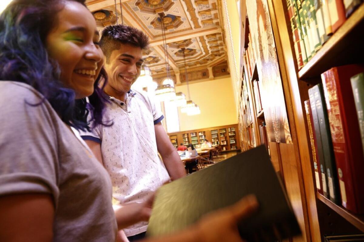
[[[40,101],[30,86],[0,81],[0,196],[48,193],[57,207],[57,114]]]

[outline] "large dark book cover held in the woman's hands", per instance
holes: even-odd
[[[282,161],[284,162],[284,161]],[[185,229],[202,215],[255,194],[259,209],[238,223],[247,241],[277,241],[301,233],[264,145],[162,186],[156,194],[147,236]]]

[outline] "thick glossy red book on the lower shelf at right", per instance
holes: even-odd
[[[364,71],[360,65],[334,67],[323,73],[323,84],[342,205],[364,213],[364,156],[350,77]]]

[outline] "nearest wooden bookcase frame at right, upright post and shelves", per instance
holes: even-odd
[[[290,170],[288,174],[284,171],[283,173],[285,179],[297,177],[296,184],[290,183],[290,186],[299,187],[300,194],[304,194],[302,195],[302,213],[298,215],[304,221],[306,236],[304,241],[323,241],[323,235],[329,233],[353,233],[351,231],[357,231],[357,229],[364,232],[363,215],[353,214],[344,207],[336,205],[317,193],[315,189],[312,151],[304,110],[304,101],[308,100],[308,89],[321,82],[321,73],[334,66],[364,62],[364,4],[362,3],[348,17],[300,70],[298,70],[294,51],[287,2],[268,0],[268,5],[288,107],[288,119],[293,133],[294,152],[291,154],[295,157],[298,167],[295,172]],[[285,165],[283,160],[282,164]],[[329,210],[335,211],[337,215],[331,214]],[[338,224],[334,231],[328,221],[331,224]],[[343,226],[340,226],[341,224]],[[344,224],[348,224],[349,229]]]

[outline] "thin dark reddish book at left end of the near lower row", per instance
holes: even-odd
[[[310,144],[311,144],[313,167],[314,167],[314,173],[315,173],[316,189],[319,193],[323,194],[323,191],[321,189],[322,177],[321,177],[321,172],[320,172],[320,160],[319,160],[318,154],[317,154],[317,140],[316,140],[316,134],[314,133],[310,100],[305,101],[305,109],[306,109],[307,125],[308,125],[308,132],[309,132]]]

